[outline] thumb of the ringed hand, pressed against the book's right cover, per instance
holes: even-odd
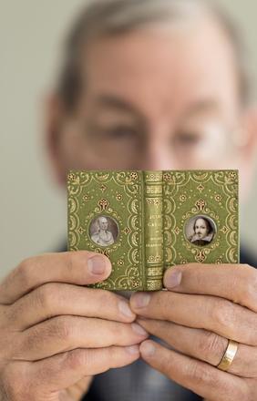
[[[209,294],[257,312],[257,272],[246,264],[190,263],[165,272],[164,285],[179,293]]]

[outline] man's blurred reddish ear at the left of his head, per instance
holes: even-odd
[[[66,182],[66,167],[61,145],[65,112],[61,100],[53,94],[45,100],[45,144],[55,178],[61,186]]]

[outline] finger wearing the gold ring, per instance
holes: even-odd
[[[151,319],[139,319],[138,323],[149,334],[159,337],[180,353],[208,362],[213,366],[220,364],[228,346],[226,338],[206,330],[191,329],[179,324]],[[228,372],[242,377],[256,377],[256,347],[239,344]]]

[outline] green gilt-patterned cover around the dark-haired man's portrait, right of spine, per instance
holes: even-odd
[[[239,262],[238,171],[169,171],[164,182],[164,264]],[[174,182],[176,184],[174,184]],[[187,200],[181,203],[181,196]],[[200,197],[199,197],[200,194]],[[213,241],[200,248],[189,242],[185,227],[197,215],[216,225]]]

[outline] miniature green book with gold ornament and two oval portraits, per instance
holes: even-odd
[[[237,170],[70,171],[68,250],[112,263],[107,290],[154,291],[165,269],[239,262]]]

